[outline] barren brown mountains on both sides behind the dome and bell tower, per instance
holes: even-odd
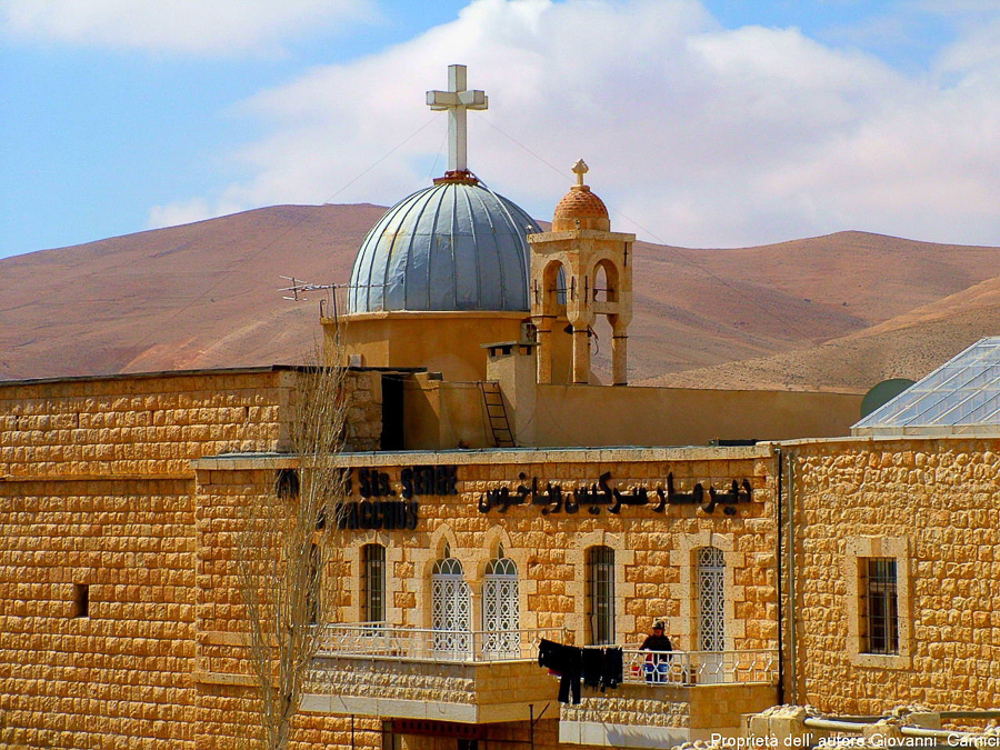
[[[0,378],[300,362],[318,298],[283,300],[279,276],[346,282],[383,210],[281,206],[0,260]],[[738,250],[639,243],[634,273],[633,381],[864,337],[879,323],[897,328],[866,338],[904,340],[904,313],[961,317],[959,298],[940,312],[917,308],[1000,274],[1000,251],[861,232]],[[943,348],[961,348],[948,337]],[[862,358],[852,380],[774,361],[742,384],[863,388],[884,369]],[[718,372],[684,377],[724,384]]]

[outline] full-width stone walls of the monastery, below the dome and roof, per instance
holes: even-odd
[[[331,531],[336,624],[297,747],[654,747],[738,732],[744,714],[780,701],[878,714],[1000,700],[996,436],[366,450],[384,429],[384,376],[348,378],[352,450],[339,460],[357,528]],[[296,378],[260,368],[0,386],[6,744],[239,747],[254,716],[238,521],[291,466]],[[389,651],[364,624],[376,547]],[[627,648],[626,682],[560,706],[536,649],[543,637],[596,640],[594,548],[610,556],[613,592],[601,640]],[[719,657],[699,653],[710,650],[704,550],[721,582]],[[451,628],[436,620],[434,581],[446,560],[451,591],[468,594],[469,634],[442,647],[434,631]],[[872,563],[889,571],[897,610],[881,634]],[[506,614],[501,568],[516,581]],[[656,620],[678,651],[666,684],[647,682],[629,650]],[[507,652],[488,642],[498,629],[518,631]]]

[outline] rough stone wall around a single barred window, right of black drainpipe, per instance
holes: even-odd
[[[798,621],[787,698],[848,714],[996,707],[1000,441],[858,439],[787,451]],[[897,654],[867,654],[859,642],[866,557],[897,560]]]

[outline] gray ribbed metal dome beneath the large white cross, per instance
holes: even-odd
[[[348,312],[528,310],[524,211],[471,180],[439,180],[386,212],[361,243]]]

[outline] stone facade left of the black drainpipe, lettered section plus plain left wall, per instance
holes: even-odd
[[[622,736],[642,747],[712,727],[734,731],[740,714],[774,701],[770,447],[366,451],[379,447],[383,374],[348,377],[348,502],[402,502],[409,486],[416,504],[403,512],[412,523],[393,518],[412,528],[331,530],[343,556],[327,571],[323,596],[337,601],[338,626],[317,662],[297,747],[451,748],[462,731],[473,738],[462,741],[486,747],[618,746]],[[0,386],[4,743],[241,744],[254,714],[233,578],[240,510],[291,466],[282,451],[297,377],[293,368],[260,368]],[[373,493],[379,486],[394,494]],[[362,510],[357,526],[379,518]],[[370,619],[362,568],[372,546],[384,551],[379,619],[403,643],[391,656],[359,648],[352,631]],[[599,638],[589,609],[594,548],[610,554]],[[626,684],[587,691],[580,706],[560,710],[558,680],[534,661],[542,637],[634,648],[664,620],[679,651],[704,650],[706,549],[719,563],[713,648],[750,663],[710,664],[729,674],[720,680],[699,677],[711,669],[697,657],[678,656],[682,673],[652,686],[644,660],[627,652]],[[427,652],[442,630],[442,560],[453,561],[451,582],[468,592],[470,640],[458,646],[468,658]],[[502,614],[489,594],[501,560],[516,590],[511,599],[507,589],[513,610]],[[497,630],[511,632],[513,651],[483,650],[481,639]]]

